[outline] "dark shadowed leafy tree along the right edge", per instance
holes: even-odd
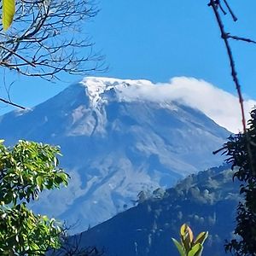
[[[236,168],[234,178],[240,183],[243,201],[237,207],[235,234],[226,244],[226,251],[236,255],[255,255],[256,252],[256,109],[251,112],[246,134],[236,134],[221,149],[228,156],[227,162]]]

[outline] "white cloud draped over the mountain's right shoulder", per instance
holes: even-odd
[[[131,80],[129,80],[131,83]],[[145,83],[143,83],[145,82]],[[218,89],[204,80],[179,77],[168,84],[152,84],[148,81],[132,81],[132,85],[120,92],[125,99],[147,99],[151,101],[177,101],[198,108],[218,125],[232,132],[242,131],[241,110],[236,96]],[[247,119],[256,101],[244,102]]]

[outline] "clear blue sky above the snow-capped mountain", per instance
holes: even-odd
[[[120,79],[149,79],[167,82],[172,77],[204,79],[236,93],[224,44],[207,1],[120,1],[98,2],[100,13],[84,27],[101,50],[109,66],[106,73],[91,73]],[[225,17],[230,32],[256,38],[256,3],[230,0],[238,16],[236,24]],[[236,65],[246,97],[256,99],[256,45],[232,42]],[[55,84],[41,79],[14,77],[10,94],[14,102],[32,107],[63,90],[80,77],[62,76]],[[3,86],[2,86],[3,91]],[[0,108],[0,113],[12,108]]]

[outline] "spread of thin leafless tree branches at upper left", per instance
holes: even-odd
[[[60,73],[105,70],[84,22],[97,14],[90,0],[20,0],[13,26],[0,27],[0,67],[47,80]]]

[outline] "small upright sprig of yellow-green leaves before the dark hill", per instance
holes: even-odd
[[[180,242],[172,238],[180,256],[201,256],[203,243],[206,241],[208,232],[201,232],[194,240],[193,232],[187,224],[180,229]]]

